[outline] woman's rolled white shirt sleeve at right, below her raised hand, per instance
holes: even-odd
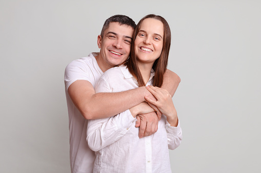
[[[182,129],[180,128],[179,120],[177,127],[170,126],[170,123],[166,121],[166,132],[169,149],[176,149],[176,147],[178,147],[180,142],[182,141]]]

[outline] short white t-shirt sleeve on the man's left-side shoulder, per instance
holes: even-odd
[[[68,90],[69,86],[76,80],[90,81],[91,70],[84,62],[74,60],[65,68],[65,88]]]

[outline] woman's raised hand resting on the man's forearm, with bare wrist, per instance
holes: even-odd
[[[174,107],[169,92],[165,89],[153,86],[147,86],[146,88],[154,95],[157,101],[153,101],[147,96],[145,96],[145,100],[152,108],[156,106],[158,110],[167,117],[167,121],[170,125],[176,127],[178,123],[177,111]]]

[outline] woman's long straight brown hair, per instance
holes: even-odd
[[[133,41],[131,43],[131,53],[130,57],[125,63],[130,71],[130,73],[137,79],[138,86],[145,86],[142,73],[140,73],[138,64],[137,64],[137,57],[135,55],[135,48],[134,48],[134,40],[136,39],[136,36],[139,32],[140,26],[143,22],[143,20],[147,18],[154,18],[163,23],[164,28],[164,36],[163,36],[163,48],[162,53],[160,54],[159,58],[156,59],[154,62],[152,69],[155,71],[155,76],[153,80],[153,86],[161,87],[163,84],[163,75],[167,69],[168,65],[168,57],[169,57],[169,50],[170,50],[170,42],[171,42],[171,33],[168,22],[162,17],[154,14],[149,14],[145,17],[143,17],[141,20],[139,20],[137,27],[134,30],[133,33]]]

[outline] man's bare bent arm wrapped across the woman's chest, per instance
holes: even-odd
[[[146,95],[153,97],[145,87],[123,92],[95,93],[92,84],[86,80],[73,82],[68,93],[86,119],[110,117],[144,102]]]

